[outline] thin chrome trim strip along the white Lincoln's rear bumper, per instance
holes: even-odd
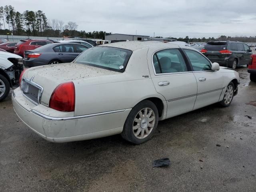
[[[114,110],[114,111],[108,111],[108,112],[102,112],[102,113],[95,113],[95,114],[89,114],[89,115],[80,115],[80,116],[73,116],[73,117],[52,117],[45,114],[42,114],[34,109],[31,110],[32,113],[45,118],[47,120],[54,120],[54,121],[63,121],[63,120],[74,120],[74,119],[80,119],[80,118],[88,118],[88,117],[96,117],[101,115],[108,115],[108,114],[114,114],[114,113],[120,113],[124,112],[129,109],[122,109],[122,110]]]

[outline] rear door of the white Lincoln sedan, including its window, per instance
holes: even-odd
[[[166,118],[193,110],[197,84],[193,72],[185,62],[180,49],[164,49],[152,57],[156,91],[167,102]]]

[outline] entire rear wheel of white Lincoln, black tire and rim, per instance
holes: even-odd
[[[150,100],[138,103],[130,111],[121,133],[122,138],[142,144],[152,137],[158,125],[158,109]]]

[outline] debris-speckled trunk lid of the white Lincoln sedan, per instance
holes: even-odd
[[[34,104],[49,105],[54,89],[64,82],[98,82],[98,77],[120,74],[119,72],[88,66],[64,63],[30,68],[22,77],[22,92]],[[90,81],[90,82],[91,82]],[[76,83],[75,83],[76,85]]]

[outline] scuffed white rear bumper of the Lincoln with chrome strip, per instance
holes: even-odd
[[[22,95],[20,88],[13,91],[12,104],[18,117],[32,131],[50,142],[72,142],[120,134],[131,110],[125,109],[109,114],[91,114],[72,119],[74,116],[64,117],[63,113],[65,112],[32,104]],[[38,110],[40,108],[43,109],[40,111]],[[51,110],[54,113],[49,113]],[[45,113],[43,113],[44,111]]]

